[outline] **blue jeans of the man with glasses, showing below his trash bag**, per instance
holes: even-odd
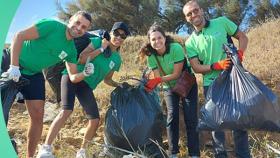
[[[206,98],[206,94],[208,91],[208,86],[204,86],[204,96]],[[250,150],[248,143],[248,132],[244,130],[233,130],[233,139],[235,146],[235,156],[237,158],[250,158]],[[212,132],[213,139],[213,148],[215,158],[224,158],[227,157],[227,152],[225,149],[225,132],[223,131],[213,131]]]

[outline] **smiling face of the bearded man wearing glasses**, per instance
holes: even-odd
[[[187,22],[194,27],[200,28],[204,25],[203,10],[196,2],[187,3],[183,8],[183,12]]]

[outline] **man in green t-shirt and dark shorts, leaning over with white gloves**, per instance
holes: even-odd
[[[91,16],[79,11],[68,24],[43,19],[35,25],[18,32],[11,45],[11,65],[4,73],[17,82],[20,76],[29,79],[23,94],[30,115],[27,133],[26,157],[33,157],[43,128],[45,103],[45,83],[42,69],[65,61],[72,82],[79,82],[93,73],[93,64],[86,64],[84,71],[78,73],[77,51],[74,38],[82,36],[91,25]]]

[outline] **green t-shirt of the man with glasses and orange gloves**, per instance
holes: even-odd
[[[227,36],[233,36],[238,31],[237,25],[226,17],[209,21],[209,25],[201,32],[193,32],[186,41],[188,58],[198,58],[203,65],[211,65],[226,58],[222,46],[228,43]],[[203,74],[203,85],[209,86],[221,71],[211,71]]]

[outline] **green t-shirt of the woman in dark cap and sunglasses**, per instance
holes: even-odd
[[[93,37],[90,40],[95,49],[101,47],[101,38]],[[109,58],[104,57],[104,54],[101,53],[90,62],[94,65],[94,73],[86,77],[84,80],[94,90],[110,71],[119,71],[122,60],[120,53],[118,51],[114,51]],[[78,71],[82,72],[84,67],[85,65],[78,64]]]

